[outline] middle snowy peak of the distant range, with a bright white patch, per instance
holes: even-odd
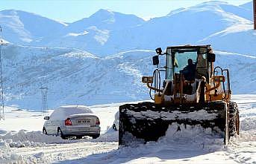
[[[57,36],[46,37],[43,43],[50,47],[77,47],[102,54],[107,51],[104,45],[113,31],[123,31],[143,23],[143,19],[137,16],[101,9],[89,18],[69,24]],[[116,40],[116,44],[118,42]]]

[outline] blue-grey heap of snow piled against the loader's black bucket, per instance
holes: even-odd
[[[178,128],[179,127],[179,128]],[[177,129],[179,129],[177,131]],[[213,151],[223,148],[223,134],[219,128],[203,128],[201,125],[184,125],[172,123],[166,131],[166,136],[157,142],[168,145],[190,145],[187,148],[202,148]],[[180,146],[178,146],[180,147]]]

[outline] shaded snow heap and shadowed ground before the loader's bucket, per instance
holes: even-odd
[[[180,126],[179,131],[177,131],[178,126]],[[159,158],[159,160],[162,161],[163,159],[172,158],[187,159],[222,150],[225,150],[223,138],[210,128],[205,129],[200,125],[187,126],[187,128],[185,128],[184,125],[172,124],[169,125],[166,135],[157,140],[157,142],[147,142],[146,144],[138,144],[137,142],[134,145],[131,144],[128,147],[119,147],[116,151],[102,154],[102,157],[98,157],[97,160],[91,158],[84,162],[126,163],[129,161],[128,163],[133,163],[132,161],[134,159],[147,159],[150,157]],[[138,161],[136,162],[140,163]],[[151,163],[154,162],[151,161]],[[158,163],[160,163],[160,161],[158,161]],[[188,163],[190,163],[189,160]]]

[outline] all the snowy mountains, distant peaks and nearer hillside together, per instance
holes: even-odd
[[[99,10],[70,24],[1,11],[4,40],[10,42],[2,48],[7,105],[40,108],[41,86],[49,88],[49,108],[149,99],[140,79],[152,75],[153,50],[184,44],[213,45],[216,65],[231,70],[233,93],[255,94],[256,32],[249,6],[208,1],[147,22]]]

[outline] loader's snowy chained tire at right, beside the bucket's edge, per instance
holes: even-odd
[[[229,137],[234,137],[235,134],[239,135],[240,121],[239,111],[236,102],[229,102],[229,121],[228,121],[228,134]]]

